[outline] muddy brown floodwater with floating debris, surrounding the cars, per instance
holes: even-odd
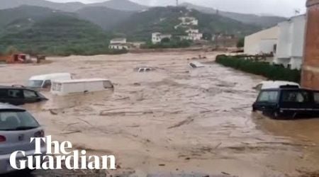
[[[0,84],[71,72],[108,78],[114,91],[51,96],[24,105],[53,139],[89,154],[115,154],[121,171],[299,176],[319,170],[319,119],[278,121],[252,114],[263,78],[212,62],[191,69],[198,52],[52,57],[50,64],[1,67]],[[156,67],[138,73],[135,67]],[[51,111],[50,111],[51,110]],[[56,114],[52,114],[52,110]]]

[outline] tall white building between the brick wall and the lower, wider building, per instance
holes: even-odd
[[[278,24],[279,38],[274,63],[301,69],[306,28],[306,15],[295,16]]]

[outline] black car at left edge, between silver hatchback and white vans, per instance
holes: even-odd
[[[12,105],[23,105],[25,103],[36,103],[47,101],[47,98],[38,91],[20,86],[0,86],[0,102]]]

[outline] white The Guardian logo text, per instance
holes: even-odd
[[[85,150],[71,151],[71,142],[65,141],[60,144],[60,142],[52,141],[51,136],[33,137],[30,143],[33,142],[35,143],[34,154],[26,156],[24,151],[16,151],[11,154],[10,165],[13,169],[62,169],[63,162],[69,170],[116,169],[116,158],[113,155],[86,156]]]

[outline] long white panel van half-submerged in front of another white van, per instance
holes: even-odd
[[[74,79],[52,81],[51,93],[65,96],[72,93],[88,93],[113,89],[114,86],[108,79]]]

